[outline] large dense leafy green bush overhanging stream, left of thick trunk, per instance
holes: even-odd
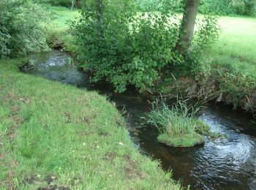
[[[84,69],[94,72],[94,82],[108,80],[119,92],[129,84],[141,91],[153,86],[176,56],[178,24],[171,23],[173,15],[137,15],[122,0],[102,1],[101,7],[97,9],[96,1],[87,4],[75,25]]]

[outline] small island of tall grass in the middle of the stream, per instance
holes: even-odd
[[[159,142],[173,147],[191,147],[203,144],[205,135],[220,137],[219,134],[210,132],[210,127],[196,118],[199,107],[187,105],[185,101],[178,101],[169,108],[166,104],[158,106],[153,104],[151,113],[148,114],[148,123],[157,126],[160,134]]]

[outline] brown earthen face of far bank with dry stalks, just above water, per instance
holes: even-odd
[[[244,82],[245,83],[245,82]],[[240,86],[243,86],[239,88]],[[236,87],[236,89],[230,89]],[[182,77],[167,87],[166,96],[183,96],[201,99],[205,102],[218,102],[233,106],[233,109],[254,113],[256,110],[256,88],[248,84],[237,84],[236,80],[226,81],[225,77],[212,75],[211,79],[197,82],[191,77]]]

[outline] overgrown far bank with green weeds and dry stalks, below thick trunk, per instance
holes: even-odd
[[[255,76],[244,76],[236,72],[219,72],[212,69],[211,75],[203,80],[193,77],[180,77],[169,84],[159,86],[153,94],[176,97],[180,94],[186,98],[201,102],[214,102],[230,105],[233,110],[241,110],[255,116],[256,83]],[[241,77],[242,76],[242,77]]]

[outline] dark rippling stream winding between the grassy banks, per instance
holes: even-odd
[[[146,126],[140,116],[150,111],[148,99],[128,91],[113,94],[107,84],[92,85],[89,77],[68,66],[69,56],[60,51],[29,56],[37,69],[25,72],[61,83],[99,91],[110,96],[119,110],[127,111],[132,139],[142,151],[159,159],[165,170],[173,170],[173,178],[190,189],[256,189],[256,126],[246,113],[230,107],[207,105],[200,113],[214,132],[227,135],[225,140],[206,140],[193,148],[170,148],[157,142],[157,130]]]

